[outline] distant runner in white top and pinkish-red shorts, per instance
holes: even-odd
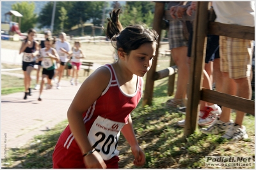
[[[79,48],[81,48],[81,43],[79,41],[75,41],[74,42],[74,47],[72,48],[72,53],[70,55],[72,55],[72,78],[70,80],[71,85],[74,85],[74,77],[76,74],[76,80],[75,83],[77,85],[78,83],[78,73],[80,70],[80,66],[81,66],[81,59],[84,59],[84,54],[82,52],[82,50],[80,50]]]

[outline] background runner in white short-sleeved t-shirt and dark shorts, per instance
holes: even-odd
[[[60,89],[60,80],[65,69],[65,65],[68,62],[68,55],[70,53],[70,43],[67,41],[67,34],[65,32],[61,32],[60,41],[56,42],[56,50],[58,55],[60,56],[60,67],[58,68],[59,80],[57,83],[57,89]]]

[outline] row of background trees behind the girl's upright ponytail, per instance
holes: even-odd
[[[107,4],[107,5],[106,5]],[[60,17],[61,7],[67,11],[67,17],[63,22]],[[64,31],[70,30],[74,26],[78,26],[81,29],[83,35],[84,23],[92,23],[93,25],[100,26],[104,23],[106,27],[106,17],[109,17],[108,13],[113,8],[120,8],[120,3],[117,1],[111,4],[109,9],[109,3],[104,1],[57,1],[56,13],[54,18],[54,32],[60,32],[61,28],[64,27]],[[40,28],[50,27],[52,18],[53,2],[50,1],[42,9],[38,23]],[[108,10],[107,10],[108,9]],[[105,15],[104,15],[105,13]],[[152,27],[152,21],[154,18],[154,3],[144,1],[127,1],[126,5],[122,7],[120,14],[120,20],[125,26],[130,24],[140,24],[141,22]],[[63,22],[63,24],[61,24]]]

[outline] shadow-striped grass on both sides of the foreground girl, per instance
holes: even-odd
[[[3,81],[2,83],[5,84]],[[177,121],[184,119],[185,116],[174,110],[167,110],[162,104],[170,99],[167,96],[167,83],[168,78],[157,80],[153,105],[143,108],[140,102],[132,111],[134,131],[146,156],[146,164],[142,168],[212,168],[205,166],[205,156],[211,155],[253,156],[254,159],[255,117],[246,114],[243,122],[249,139],[239,141],[236,145],[228,145],[227,141],[221,140],[221,135],[207,136],[198,131],[184,138],[183,129],[177,126]],[[235,116],[236,114],[232,113],[233,120]],[[26,146],[12,149],[8,153],[7,168],[51,168],[54,146],[67,124],[67,120],[61,122],[44,135],[35,136]],[[131,149],[122,135],[118,142],[118,150],[120,168],[138,168],[132,164]],[[254,169],[254,164],[253,167],[246,168]]]

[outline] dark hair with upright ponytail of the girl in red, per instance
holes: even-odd
[[[131,50],[138,49],[144,43],[156,42],[157,44],[157,32],[154,29],[148,29],[145,24],[129,25],[122,31],[120,31],[120,29],[112,28],[121,27],[122,25],[120,26],[119,24],[121,25],[118,20],[118,15],[116,20],[113,20],[112,17],[111,20],[109,20],[106,32],[108,38],[111,39],[111,43],[116,48],[116,50],[122,48],[122,51],[129,55]]]

